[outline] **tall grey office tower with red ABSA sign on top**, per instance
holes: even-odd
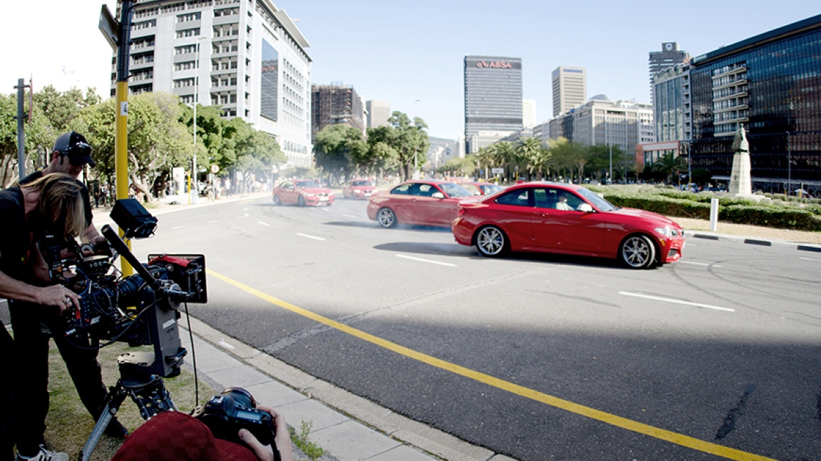
[[[466,56],[464,62],[466,148],[477,153],[522,128],[521,58]]]

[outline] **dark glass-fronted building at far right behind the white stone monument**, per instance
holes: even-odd
[[[756,188],[821,186],[821,15],[695,57],[690,83],[693,168],[728,178],[741,124]]]

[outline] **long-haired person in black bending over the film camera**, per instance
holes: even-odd
[[[54,331],[59,314],[71,306],[79,308],[80,297],[52,283],[38,241],[46,233],[66,240],[85,233],[83,189],[72,176],[57,173],[0,190],[0,297],[9,300],[15,335],[13,368],[4,375],[11,381],[18,407],[14,426],[17,459],[68,459],[44,447],[48,335],[41,325]],[[54,340],[86,408],[99,412],[106,389],[96,350],[76,349],[62,337]]]

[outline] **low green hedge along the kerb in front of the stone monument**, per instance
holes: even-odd
[[[675,189],[618,189],[591,187],[617,207],[640,208],[671,217],[710,218],[713,194],[691,194]],[[779,229],[821,231],[821,207],[796,208],[757,203],[732,196],[718,198],[720,221],[777,227]]]

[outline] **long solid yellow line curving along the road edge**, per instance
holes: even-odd
[[[685,446],[693,450],[703,451],[704,453],[715,454],[716,456],[721,456],[722,458],[736,459],[737,461],[775,461],[772,458],[766,458],[764,456],[759,456],[758,454],[751,454],[745,451],[728,448],[726,446],[716,445],[710,442],[705,442],[704,440],[695,439],[690,436],[684,436],[676,432],[665,431],[663,429],[659,429],[658,427],[649,426],[647,424],[636,422],[631,419],[621,418],[611,413],[605,413],[597,409],[591,409],[589,407],[585,407],[584,405],[574,404],[573,402],[553,397],[553,395],[544,394],[542,392],[539,392],[538,390],[528,389],[524,386],[518,386],[511,382],[504,381],[481,372],[476,372],[474,370],[471,370],[470,368],[460,367],[459,365],[456,365],[454,363],[445,362],[444,360],[440,360],[430,355],[422,354],[413,349],[408,349],[401,345],[397,345],[396,343],[392,343],[391,341],[383,340],[378,336],[374,336],[369,333],[365,333],[365,331],[360,331],[355,328],[352,328],[351,326],[347,326],[340,322],[333,321],[328,317],[323,317],[319,314],[312,313],[303,308],[298,308],[293,304],[288,304],[285,301],[282,301],[281,299],[276,299],[269,294],[265,294],[262,291],[255,290],[254,288],[251,288],[250,286],[245,285],[241,282],[234,281],[228,278],[227,276],[219,274],[218,272],[213,272],[213,270],[211,269],[207,269],[207,272],[209,273],[209,275],[215,276],[218,279],[227,282],[228,284],[236,286],[240,290],[244,290],[245,292],[253,294],[260,299],[264,299],[271,304],[276,304],[277,306],[281,308],[286,308],[287,310],[293,313],[298,313],[301,316],[308,317],[316,322],[323,323],[327,326],[331,326],[339,331],[344,331],[349,335],[354,335],[357,338],[360,338],[361,340],[366,340],[370,343],[373,343],[374,345],[383,347],[384,349],[392,350],[397,354],[401,354],[409,358],[415,358],[416,360],[432,365],[433,367],[442,368],[443,370],[456,373],[457,375],[460,375],[462,377],[468,377],[475,381],[482,382],[488,386],[493,386],[497,387],[498,389],[507,390],[512,394],[521,395],[522,397],[525,397],[527,399],[542,402],[543,404],[548,404],[558,409],[564,409],[571,413],[580,414],[581,416],[585,416],[587,418],[593,418],[601,422],[606,422],[608,424],[611,424],[612,426],[621,427],[628,431],[638,432],[640,434],[644,434],[645,436],[655,437],[660,440],[667,440],[668,442]]]

